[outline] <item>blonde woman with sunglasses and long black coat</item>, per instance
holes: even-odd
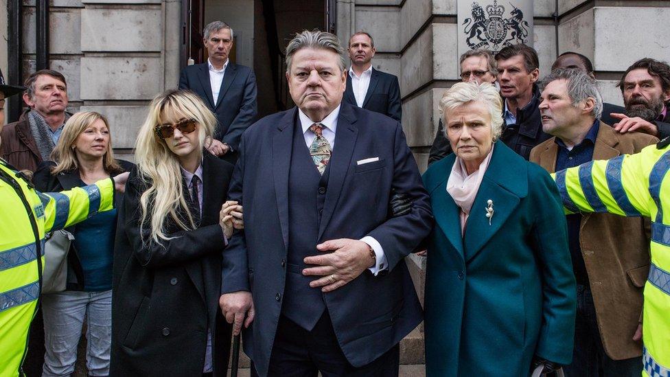
[[[242,207],[226,201],[233,165],[205,150],[215,125],[197,95],[167,91],[139,129],[119,210],[111,375],[227,372],[221,255]]]

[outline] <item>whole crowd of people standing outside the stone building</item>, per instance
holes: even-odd
[[[135,163],[62,73],[0,73],[27,105],[0,126],[0,375],[73,374],[85,328],[90,376],[225,376],[240,333],[253,376],[397,376],[423,320],[428,376],[670,376],[667,62],[634,62],[622,107],[576,52],[542,74],[526,45],[466,52],[421,176],[367,32],[349,69],[337,36],[297,34],[296,106],[262,119],[231,27],[203,35]],[[41,295],[59,229],[67,279]]]

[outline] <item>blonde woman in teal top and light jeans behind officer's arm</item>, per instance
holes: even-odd
[[[114,158],[107,119],[93,112],[70,117],[51,159],[41,163],[33,177],[35,187],[42,192],[84,187],[132,169],[132,163]],[[115,196],[117,205],[122,197]],[[67,255],[67,288],[44,295],[42,301],[46,349],[43,376],[69,376],[74,372],[84,319],[89,376],[109,374],[116,222],[117,209],[112,209],[66,229],[75,236]]]

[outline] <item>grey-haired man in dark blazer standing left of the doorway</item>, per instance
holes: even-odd
[[[209,152],[231,163],[238,159],[240,137],[255,121],[256,76],[249,67],[230,62],[233,29],[224,22],[205,26],[203,42],[209,58],[181,71],[179,89],[190,89],[203,98],[218,124]]]

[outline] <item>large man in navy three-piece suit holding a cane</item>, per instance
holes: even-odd
[[[397,376],[400,340],[421,321],[404,257],[432,227],[400,122],[342,101],[337,36],[286,47],[297,108],[242,136],[229,196],[245,230],[223,255],[220,305],[244,325],[259,376]],[[389,215],[393,192],[410,203]],[[253,299],[252,299],[253,297]]]

